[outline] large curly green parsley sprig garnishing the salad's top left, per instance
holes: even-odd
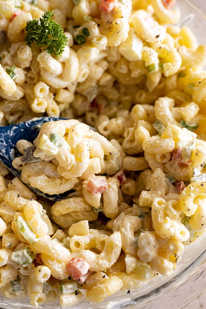
[[[33,19],[27,22],[25,41],[31,47],[45,46],[49,54],[54,54],[57,58],[64,51],[67,37],[64,34],[62,26],[51,20],[54,16],[51,11],[46,11],[39,20]]]

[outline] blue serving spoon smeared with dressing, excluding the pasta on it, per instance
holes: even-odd
[[[17,125],[6,125],[0,127],[0,161],[8,167],[15,177],[20,178],[21,172],[17,171],[12,166],[12,161],[18,154],[18,151],[15,150],[15,145],[20,139],[26,139],[27,141],[33,143],[37,137],[41,126],[48,121],[57,121],[57,120],[66,120],[66,118],[58,117],[42,117],[35,118],[35,120],[29,120],[26,122],[19,123]],[[41,192],[37,188],[31,187],[29,184],[26,184],[28,188],[32,191],[48,198],[53,201],[60,201],[63,198],[67,197],[70,193],[73,193],[74,190],[69,190],[61,194],[49,195]]]

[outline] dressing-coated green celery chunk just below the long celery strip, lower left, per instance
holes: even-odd
[[[29,249],[29,247],[14,251],[10,255],[12,261],[15,261],[16,263],[21,265],[31,264],[35,257],[36,255]]]

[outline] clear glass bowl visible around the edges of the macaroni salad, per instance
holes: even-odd
[[[59,0],[61,1],[61,0]],[[144,0],[142,0],[144,1]],[[179,26],[187,25],[200,44],[206,43],[206,0],[177,0],[182,12]],[[118,292],[101,303],[86,300],[71,309],[181,309],[206,290],[206,237],[186,247],[177,268],[166,277],[159,276],[139,290]],[[29,299],[11,300],[0,296],[0,307],[36,308]],[[60,309],[59,303],[46,303],[38,308]]]

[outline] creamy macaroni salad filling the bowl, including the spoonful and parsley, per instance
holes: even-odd
[[[206,229],[206,45],[174,5],[0,0],[0,125],[68,119],[17,142],[21,180],[0,163],[5,297],[129,293]]]

